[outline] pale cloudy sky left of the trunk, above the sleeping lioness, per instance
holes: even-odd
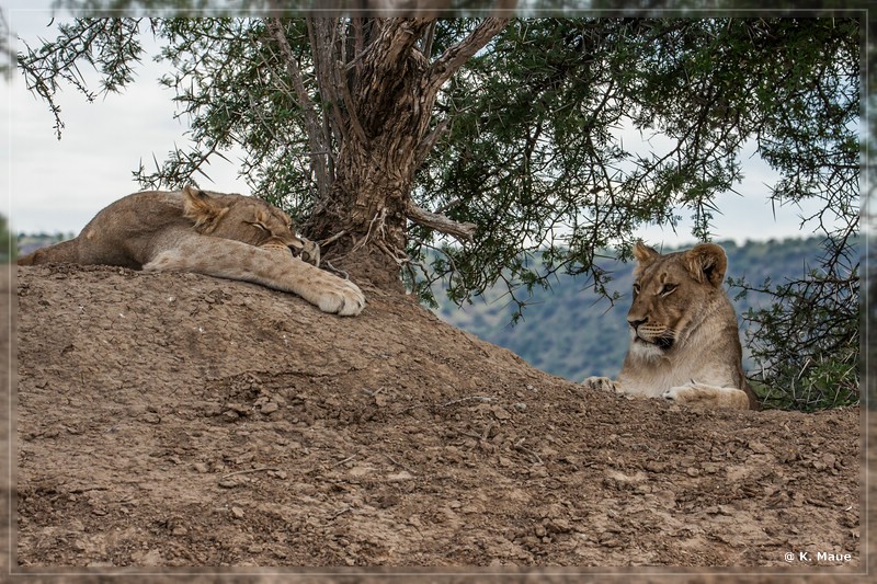
[[[46,27],[48,11],[10,12],[10,26],[32,46],[38,37],[56,34],[56,25]],[[95,75],[82,72],[96,81]],[[5,210],[13,229],[78,232],[98,210],[139,190],[132,173],[140,161],[148,169],[153,154],[161,161],[174,144],[185,144],[186,127],[174,119],[172,93],[157,82],[162,65],[149,55],[136,72],[137,80],[123,93],[99,96],[94,103],[65,87],[58,95],[65,124],[60,140],[47,104],[27,91],[24,78],[15,73],[3,81],[8,100],[0,115],[8,124],[9,163],[0,170],[0,181],[9,185]],[[215,183],[200,181],[203,186],[243,192],[235,169],[221,160],[210,168],[210,176]]]

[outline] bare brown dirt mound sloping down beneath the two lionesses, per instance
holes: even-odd
[[[19,268],[19,569],[864,570],[857,408],[601,394],[365,291],[342,319],[197,275]]]

